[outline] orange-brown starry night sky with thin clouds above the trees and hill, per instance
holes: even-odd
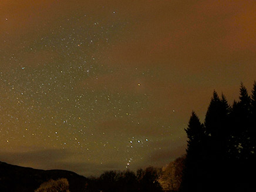
[[[0,161],[165,166],[192,110],[256,80],[255,1],[0,1]]]

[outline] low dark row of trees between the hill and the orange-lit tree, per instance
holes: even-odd
[[[147,167],[134,171],[106,171],[100,177],[91,177],[86,184],[86,191],[96,192],[160,192],[159,178],[161,169]]]

